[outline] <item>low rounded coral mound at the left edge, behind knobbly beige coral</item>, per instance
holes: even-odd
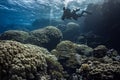
[[[0,35],[1,40],[15,40],[24,43],[29,37],[29,33],[19,30],[8,30]]]

